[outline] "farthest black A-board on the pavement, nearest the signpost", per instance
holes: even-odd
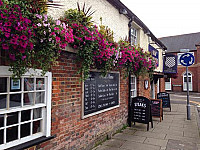
[[[170,108],[170,111],[171,111],[171,104],[170,104],[169,93],[160,92],[160,93],[157,94],[157,99],[162,99],[162,106],[163,106],[163,108]]]

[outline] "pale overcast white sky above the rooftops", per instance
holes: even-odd
[[[200,0],[121,0],[157,37],[200,32]]]

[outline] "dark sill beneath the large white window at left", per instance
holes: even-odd
[[[22,149],[30,148],[32,146],[41,144],[41,143],[46,142],[48,140],[51,140],[53,138],[55,138],[55,135],[54,136],[49,136],[49,137],[43,136],[43,137],[40,137],[38,139],[32,140],[30,142],[26,142],[26,143],[23,143],[23,144],[8,148],[7,150],[22,150]]]

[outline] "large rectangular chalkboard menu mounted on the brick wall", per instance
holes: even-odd
[[[84,116],[119,105],[119,73],[90,72],[84,82]]]

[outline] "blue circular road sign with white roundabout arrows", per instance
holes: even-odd
[[[194,63],[194,56],[191,53],[184,53],[180,57],[180,63],[183,66],[191,66]]]

